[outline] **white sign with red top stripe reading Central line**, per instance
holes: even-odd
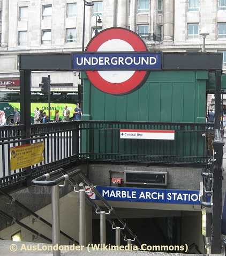
[[[136,140],[175,140],[175,130],[120,129],[120,138],[132,138]]]

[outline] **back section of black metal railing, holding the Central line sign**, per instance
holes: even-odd
[[[120,129],[174,130],[175,140],[127,140]],[[88,138],[88,140],[87,140]],[[142,164],[206,164],[212,155],[213,124],[81,122],[81,158]]]

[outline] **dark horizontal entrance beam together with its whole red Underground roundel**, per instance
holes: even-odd
[[[149,52],[137,33],[119,27],[95,35],[84,53],[28,56],[20,55],[20,69],[85,71],[97,89],[115,95],[139,89],[151,70],[222,70],[221,53]]]

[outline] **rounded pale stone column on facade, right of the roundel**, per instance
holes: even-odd
[[[174,0],[164,0],[163,41],[174,40]]]

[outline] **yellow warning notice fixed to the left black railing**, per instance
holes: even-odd
[[[25,168],[44,160],[44,142],[10,148],[10,170]]]

